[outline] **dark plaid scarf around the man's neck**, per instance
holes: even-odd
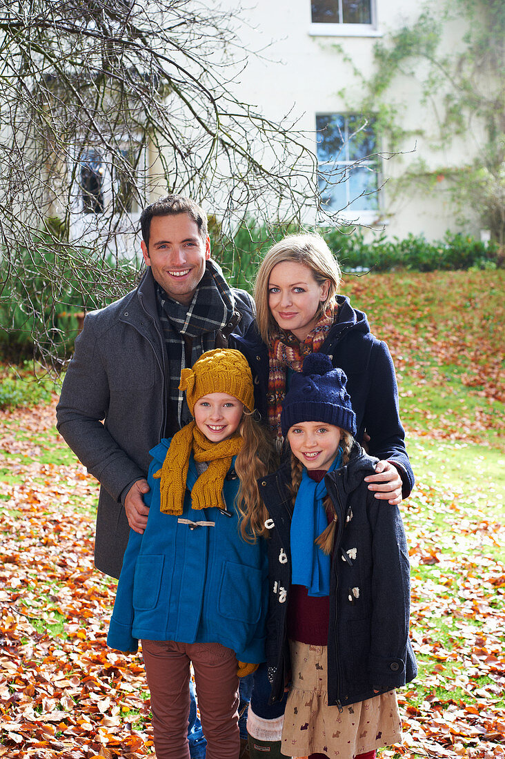
[[[223,272],[213,261],[207,261],[204,276],[200,280],[191,304],[185,306],[172,300],[162,287],[156,284],[158,315],[169,357],[169,414],[167,419],[176,430],[188,424],[192,417],[185,394],[179,390],[181,371],[187,366],[185,343],[191,345],[192,367],[205,351],[216,347],[216,332],[233,316],[235,298],[226,283]]]

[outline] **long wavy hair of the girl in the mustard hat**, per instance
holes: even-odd
[[[265,521],[269,516],[260,497],[257,479],[275,471],[279,461],[270,430],[246,409],[238,432],[244,443],[235,459],[235,472],[240,480],[235,505],[241,515],[241,537],[248,543],[255,543],[257,537],[268,534]]]

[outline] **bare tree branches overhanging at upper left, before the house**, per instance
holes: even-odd
[[[227,229],[330,220],[311,141],[233,94],[234,23],[197,0],[0,0],[0,308],[20,299],[40,353],[62,329],[52,301],[90,308],[131,286],[154,190]]]

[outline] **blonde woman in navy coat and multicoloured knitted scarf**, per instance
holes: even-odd
[[[348,378],[356,439],[380,460],[365,477],[377,499],[391,505],[409,496],[414,474],[399,419],[398,388],[390,351],[370,332],[365,313],[338,295],[340,269],[320,235],[289,235],[270,248],[257,272],[256,323],[235,337],[254,376],[255,406],[282,445],[280,414],[293,372],[320,351]],[[248,716],[251,759],[282,757],[285,700],[267,704],[266,668],[254,675]],[[315,755],[314,755],[315,759]]]

